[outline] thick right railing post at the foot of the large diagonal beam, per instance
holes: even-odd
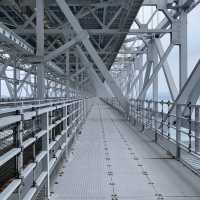
[[[176,159],[180,160],[181,157],[181,105],[176,105]]]

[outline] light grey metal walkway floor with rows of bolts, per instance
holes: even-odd
[[[57,182],[51,200],[200,200],[199,177],[100,101]]]

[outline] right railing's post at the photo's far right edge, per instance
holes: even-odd
[[[200,152],[199,106],[195,107],[195,153]]]

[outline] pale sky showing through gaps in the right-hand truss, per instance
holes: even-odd
[[[143,9],[143,10],[142,10]],[[152,13],[154,8],[146,7],[142,8],[138,13],[138,19],[140,22],[146,23]],[[163,14],[160,13],[153,18],[153,23],[151,26],[155,27],[163,19]],[[188,76],[192,72],[195,64],[200,59],[200,5],[193,9],[188,14]],[[133,28],[137,28],[136,26]],[[166,50],[169,45],[170,37],[169,35],[164,36],[161,42]],[[177,88],[179,89],[179,51],[178,46],[174,47],[167,59],[172,75],[174,77]],[[165,76],[162,69],[159,72],[159,97],[167,98],[170,100],[170,93],[165,81]],[[151,98],[152,90],[149,89],[147,96]]]

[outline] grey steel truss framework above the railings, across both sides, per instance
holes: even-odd
[[[127,105],[124,96],[145,99],[152,85],[152,99],[158,100],[158,73],[161,69],[164,72],[172,101],[180,103],[181,99],[184,99],[184,102],[193,104],[197,101],[198,88],[195,89],[194,86],[199,79],[194,77],[196,73],[191,73],[190,78],[187,75],[186,22],[188,13],[199,4],[199,1],[145,0],[143,7],[153,7],[152,14],[146,21],[142,20],[141,16],[135,19],[142,1],[115,1],[114,5],[111,0],[94,3],[49,1],[44,5],[40,1],[39,9],[35,12],[36,2],[2,1],[0,3],[4,23],[2,27],[6,30],[1,31],[3,60],[1,82],[2,85],[6,85],[12,99],[67,96],[69,90],[79,91],[79,93],[80,90],[84,90],[82,94],[89,92],[91,94],[97,88],[101,88],[101,82],[94,83],[91,73],[88,73],[87,67],[77,55],[75,46],[79,44],[82,49],[84,46],[85,55],[89,62],[94,64],[93,69],[97,73],[95,80],[99,77],[101,81],[105,81],[124,107]],[[158,13],[162,15],[161,20],[158,19],[157,23],[153,23]],[[134,26],[131,27],[133,21]],[[26,36],[26,41],[17,34],[23,38]],[[171,40],[167,50],[164,50],[161,39],[167,34],[170,34]],[[129,37],[125,39],[123,49],[119,51],[126,35]],[[80,45],[81,43],[83,46]],[[126,46],[128,43],[131,43],[131,46]],[[175,84],[167,62],[175,46],[179,47],[179,85]],[[36,47],[39,48],[40,52],[36,52],[37,56],[33,54],[34,47],[35,50]],[[44,56],[41,50],[43,48]],[[69,48],[70,53],[66,56],[65,52]],[[116,58],[118,51],[123,56]],[[146,60],[144,55],[146,55]],[[117,67],[123,68],[123,64],[128,65],[127,69],[131,71],[128,77],[127,70],[126,74],[117,75],[118,80],[121,79],[117,84],[106,69],[109,69],[113,62],[113,66]],[[70,66],[66,67],[66,64]],[[8,65],[12,66],[11,69],[7,67]],[[43,66],[46,66],[45,70]],[[198,66],[197,64],[195,70],[199,68]],[[13,76],[7,75],[8,70]],[[21,75],[21,71],[25,74],[24,76]],[[48,78],[43,81],[44,77]],[[69,90],[66,89],[66,78],[67,85],[71,88]],[[89,85],[91,87],[88,87]],[[96,93],[100,92],[96,91]],[[187,94],[190,94],[188,99]]]

